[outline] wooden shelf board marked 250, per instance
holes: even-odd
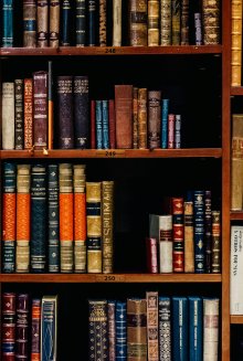
[[[1,283],[221,283],[221,274],[0,274]]]

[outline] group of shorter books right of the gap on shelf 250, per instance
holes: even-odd
[[[149,214],[146,240],[150,273],[220,273],[221,212],[210,190],[171,198],[171,213]]]

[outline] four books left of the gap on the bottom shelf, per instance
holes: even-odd
[[[1,360],[57,360],[57,296],[1,297]]]

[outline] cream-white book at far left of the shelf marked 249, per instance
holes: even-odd
[[[2,149],[14,149],[14,83],[2,83]]]

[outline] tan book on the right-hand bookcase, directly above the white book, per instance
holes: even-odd
[[[243,114],[232,115],[231,209],[243,209]]]

